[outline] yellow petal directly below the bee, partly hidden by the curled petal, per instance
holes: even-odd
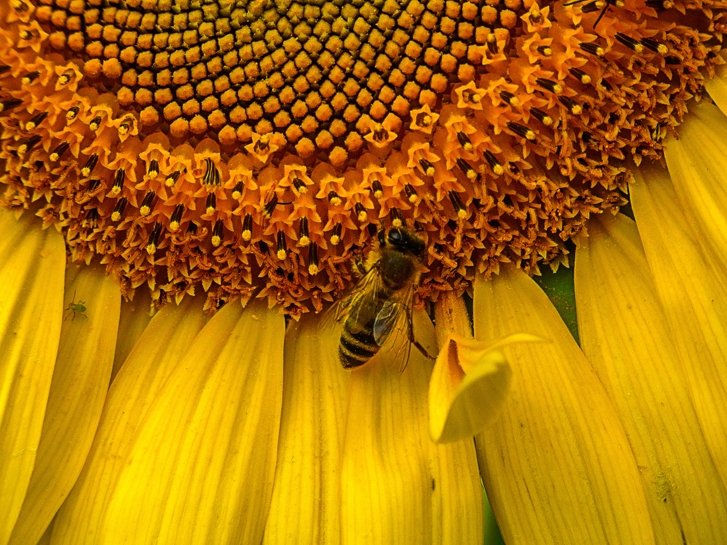
[[[414,313],[434,353],[433,326]],[[436,445],[428,434],[432,363],[411,350],[403,372],[387,344],[351,371],[342,461],[342,543],[482,543],[483,510],[472,440]]]

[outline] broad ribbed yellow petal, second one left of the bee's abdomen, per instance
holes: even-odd
[[[255,544],[273,489],[281,314],[222,308],[172,371],[134,438],[100,543]],[[122,371],[123,372],[123,368]]]

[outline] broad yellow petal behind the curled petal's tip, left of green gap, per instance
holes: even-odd
[[[654,544],[646,497],[614,406],[547,296],[521,270],[475,280],[475,338],[525,331],[505,348],[502,413],[475,438],[507,545]]]

